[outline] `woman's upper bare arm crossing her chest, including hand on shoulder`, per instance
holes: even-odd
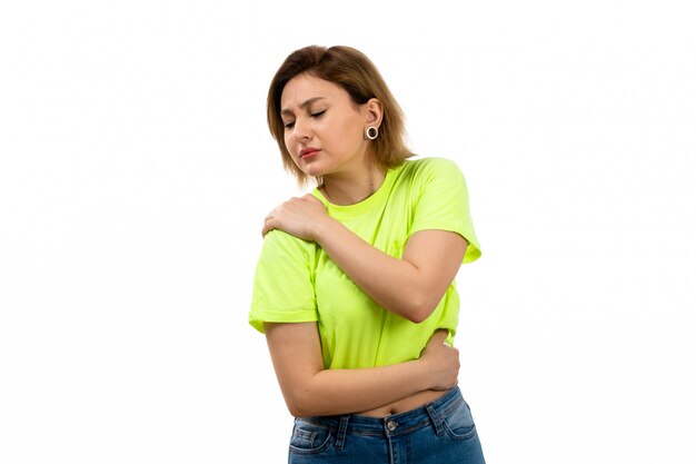
[[[461,265],[467,243],[455,231],[418,230],[401,256],[391,257],[326,214],[311,195],[286,201],[264,221],[316,241],[350,279],[385,309],[414,323],[425,320],[441,300]]]

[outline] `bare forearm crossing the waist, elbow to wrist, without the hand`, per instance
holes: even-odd
[[[294,397],[286,397],[295,416],[322,416],[369,411],[428,389],[421,363],[410,361],[361,369],[324,369]]]

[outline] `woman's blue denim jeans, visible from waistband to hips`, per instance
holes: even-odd
[[[295,419],[290,464],[484,464],[469,405],[455,387],[416,409]]]

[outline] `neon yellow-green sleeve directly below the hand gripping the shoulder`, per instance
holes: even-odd
[[[256,267],[249,324],[318,320],[311,243],[281,230],[269,231]]]

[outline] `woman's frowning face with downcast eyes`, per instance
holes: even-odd
[[[348,92],[324,79],[302,73],[288,81],[280,97],[285,145],[308,176],[350,175],[365,166],[364,138],[370,113]]]

